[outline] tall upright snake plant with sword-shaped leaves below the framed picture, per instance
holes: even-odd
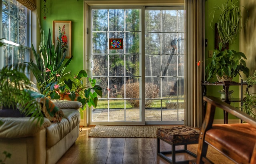
[[[73,56],[65,60],[66,48],[61,48],[59,42],[54,50],[50,29],[48,39],[44,36],[44,31],[42,31],[39,53],[36,53],[33,44],[32,52],[35,62],[31,59],[28,64],[31,66],[32,72],[36,78],[38,89],[45,96],[49,96],[48,86],[51,86],[53,83],[59,83]]]

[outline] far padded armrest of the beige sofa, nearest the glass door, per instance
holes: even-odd
[[[82,103],[78,101],[68,100],[51,100],[59,109],[79,109],[82,108]]]

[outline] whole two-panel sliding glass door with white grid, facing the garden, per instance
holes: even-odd
[[[89,124],[182,124],[184,7],[89,11],[90,76],[108,89]],[[112,38],[123,39],[123,48],[110,49]]]

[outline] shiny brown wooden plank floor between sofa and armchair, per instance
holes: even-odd
[[[94,138],[88,137],[93,126],[83,127],[76,143],[60,158],[57,164],[168,164],[156,155],[156,138]],[[198,144],[188,145],[196,153]],[[160,142],[160,151],[171,146]],[[178,149],[178,148],[176,148]],[[215,164],[234,164],[215,149],[208,148],[207,157]],[[176,161],[194,159],[177,154]]]

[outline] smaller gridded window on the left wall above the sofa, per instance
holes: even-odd
[[[0,49],[0,68],[29,62],[31,12],[16,0],[2,0],[1,4],[0,38],[4,38],[4,46]]]

